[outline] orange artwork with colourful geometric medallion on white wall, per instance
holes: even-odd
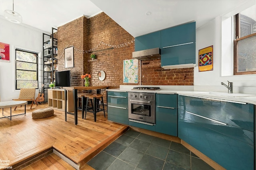
[[[198,52],[198,68],[199,72],[201,71],[210,71],[213,70],[213,45],[200,49]]]

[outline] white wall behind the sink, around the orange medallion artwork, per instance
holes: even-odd
[[[251,4],[248,4],[251,5]],[[246,7],[243,7],[246,9]],[[241,9],[240,11],[244,10]],[[236,9],[236,13],[240,12]],[[235,13],[235,14],[236,14]],[[230,13],[230,16],[234,13]],[[213,70],[212,71],[198,71],[198,64],[194,68],[194,90],[202,91],[220,91],[227,92],[228,89],[222,85],[221,82],[227,84],[227,80],[234,82],[234,92],[235,93],[253,93],[256,94],[256,74],[251,75],[231,75],[231,76],[221,76],[221,75],[230,75],[222,74],[222,66],[225,66],[222,63],[221,57],[232,58],[232,49],[229,46],[225,47],[225,44],[222,44],[222,18],[217,17],[214,20],[206,23],[205,25],[196,29],[196,56],[198,63],[198,50],[205,47],[213,45]],[[227,18],[227,16],[225,16]],[[229,51],[229,52],[228,52]],[[223,52],[223,53],[222,53]],[[225,55],[222,55],[225,54]],[[227,56],[226,54],[230,55]],[[226,61],[228,68],[226,70],[230,71],[230,62]]]

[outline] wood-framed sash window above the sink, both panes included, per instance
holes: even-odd
[[[255,5],[236,15],[234,41],[234,74],[256,74],[256,13]],[[235,61],[234,60],[234,61]]]

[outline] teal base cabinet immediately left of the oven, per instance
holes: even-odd
[[[128,92],[108,91],[108,120],[128,125]]]

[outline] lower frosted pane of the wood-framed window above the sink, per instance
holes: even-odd
[[[238,41],[238,72],[256,70],[256,36]]]

